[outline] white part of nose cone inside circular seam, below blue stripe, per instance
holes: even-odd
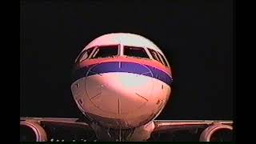
[[[98,109],[112,114],[129,114],[149,101],[153,81],[140,74],[106,73],[86,78],[86,92]]]

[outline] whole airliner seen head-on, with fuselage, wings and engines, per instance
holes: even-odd
[[[71,92],[84,118],[22,117],[21,142],[158,141],[160,135],[177,141],[193,134],[200,142],[233,140],[232,120],[156,120],[173,78],[165,54],[141,35],[95,38],[75,59],[73,75]]]

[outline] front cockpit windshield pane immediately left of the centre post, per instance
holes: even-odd
[[[107,58],[118,55],[118,45],[115,46],[98,46],[92,58]]]

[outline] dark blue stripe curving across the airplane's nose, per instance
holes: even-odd
[[[102,62],[90,66],[85,66],[74,71],[73,82],[80,78],[88,77],[90,75],[111,72],[142,74],[148,77],[157,78],[158,80],[165,82],[169,86],[172,82],[172,78],[169,74],[166,74],[166,72],[152,66],[145,66],[134,62]]]

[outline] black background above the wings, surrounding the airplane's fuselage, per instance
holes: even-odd
[[[74,59],[102,34],[129,32],[159,46],[173,71],[158,119],[233,119],[231,0],[21,2],[20,116],[81,116],[70,91]]]

